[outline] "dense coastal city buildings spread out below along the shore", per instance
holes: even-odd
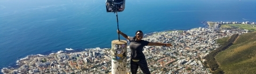
[[[220,22],[225,23],[225,22]],[[219,28],[219,27],[215,27]],[[217,49],[215,40],[233,34],[243,34],[241,30],[198,29],[158,32],[143,40],[171,43],[173,47],[147,46],[146,56],[151,73],[210,73],[202,62],[204,57]],[[130,72],[130,48],[127,46],[127,72]],[[82,52],[55,53],[49,56],[34,56],[20,60],[18,69],[2,69],[4,73],[110,73],[110,49],[86,49]],[[138,73],[142,73],[139,69]]]

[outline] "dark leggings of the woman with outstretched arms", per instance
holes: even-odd
[[[136,74],[139,67],[143,71],[143,73],[150,74],[146,59],[141,59],[138,62],[134,62],[134,61],[131,60],[131,72],[132,72],[132,74]]]

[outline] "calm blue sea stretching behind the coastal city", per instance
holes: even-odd
[[[114,13],[105,0],[0,0],[0,69],[30,54],[66,48],[110,48],[118,39]],[[119,29],[129,36],[142,30],[188,30],[206,21],[256,22],[254,0],[126,0]],[[121,36],[121,39],[124,39]]]

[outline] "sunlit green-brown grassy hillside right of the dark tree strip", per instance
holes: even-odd
[[[218,43],[226,42],[219,39]],[[256,32],[239,35],[233,45],[215,56],[225,73],[256,73]]]

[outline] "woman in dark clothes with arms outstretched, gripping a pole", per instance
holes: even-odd
[[[147,45],[157,45],[157,46],[165,45],[166,47],[172,46],[172,44],[170,43],[148,42],[145,40],[141,40],[143,38],[142,31],[136,31],[134,37],[127,36],[126,34],[118,30],[117,30],[117,33],[121,34],[122,36],[124,36],[125,39],[130,41],[132,74],[136,74],[139,67],[143,71],[143,73],[150,74],[145,55],[142,52],[143,47]]]

